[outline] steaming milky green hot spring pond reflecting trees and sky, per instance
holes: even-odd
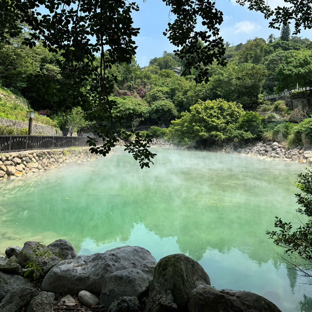
[[[66,238],[80,254],[139,245],[157,260],[184,253],[218,289],[256,292],[283,312],[312,309],[312,286],[265,231],[298,223],[292,181],[304,166],[248,156],[155,149],[139,169],[116,150],[90,163],[0,183],[0,254]],[[309,306],[310,303],[310,306]]]

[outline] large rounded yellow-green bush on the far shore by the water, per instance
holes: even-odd
[[[257,113],[245,112],[242,105],[216,99],[199,100],[183,112],[180,119],[172,121],[168,137],[181,145],[205,142],[218,144],[225,140],[257,138],[263,132],[263,118]]]

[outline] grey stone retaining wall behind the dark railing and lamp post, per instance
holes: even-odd
[[[15,129],[28,128],[28,121],[19,121],[19,120],[14,120],[14,119],[0,118],[0,125],[6,126],[6,127],[13,127]],[[63,133],[55,127],[41,125],[39,123],[33,122],[32,135],[62,136]]]

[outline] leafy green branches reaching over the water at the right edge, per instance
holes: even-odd
[[[301,225],[293,230],[291,222],[283,222],[275,217],[277,231],[266,233],[274,244],[285,248],[283,258],[303,276],[312,277],[312,167],[298,175],[295,185],[302,193],[295,194],[300,207],[296,210],[303,219]]]

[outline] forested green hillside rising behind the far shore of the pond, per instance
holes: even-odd
[[[82,109],[81,116],[90,120],[97,121],[99,115],[106,113],[104,109],[95,109],[91,77],[86,80],[78,74],[72,75],[70,69],[60,70],[62,54],[48,52],[40,42],[33,48],[23,45],[27,36],[25,31],[11,39],[10,45],[0,46],[2,87],[24,97],[36,111],[49,109],[50,117],[59,127],[69,124],[68,116],[73,115],[77,106]],[[200,84],[195,83],[195,70],[185,77],[176,74],[183,68],[183,62],[166,51],[151,59],[147,67],[140,68],[136,59],[131,64],[113,65],[108,69],[116,76],[111,81],[114,84],[110,95],[112,116],[125,129],[134,125],[138,129],[140,126],[167,128],[176,120],[169,131],[153,127],[150,132],[179,144],[261,137],[285,140],[296,127],[285,121],[298,122],[308,117],[304,111],[299,114],[301,120],[291,120],[291,112],[283,102],[265,102],[261,95],[291,90],[297,83],[299,88],[312,86],[311,40],[290,37],[285,26],[280,38],[270,35],[268,39],[254,38],[236,46],[226,43],[225,58],[227,65],[211,65],[207,71],[209,82]],[[95,65],[99,61],[96,57]],[[275,116],[280,122],[268,126],[264,117],[248,111],[258,111],[267,119]],[[86,125],[82,122],[75,130]],[[277,131],[276,126],[282,129]],[[301,143],[300,137],[301,134],[292,135],[294,144]]]

